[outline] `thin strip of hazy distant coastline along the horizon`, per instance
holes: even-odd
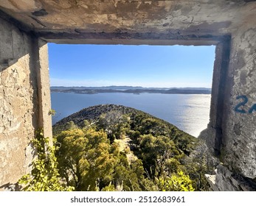
[[[143,88],[130,86],[108,87],[51,87],[51,92],[63,93],[180,93],[180,94],[210,94],[210,88]]]

